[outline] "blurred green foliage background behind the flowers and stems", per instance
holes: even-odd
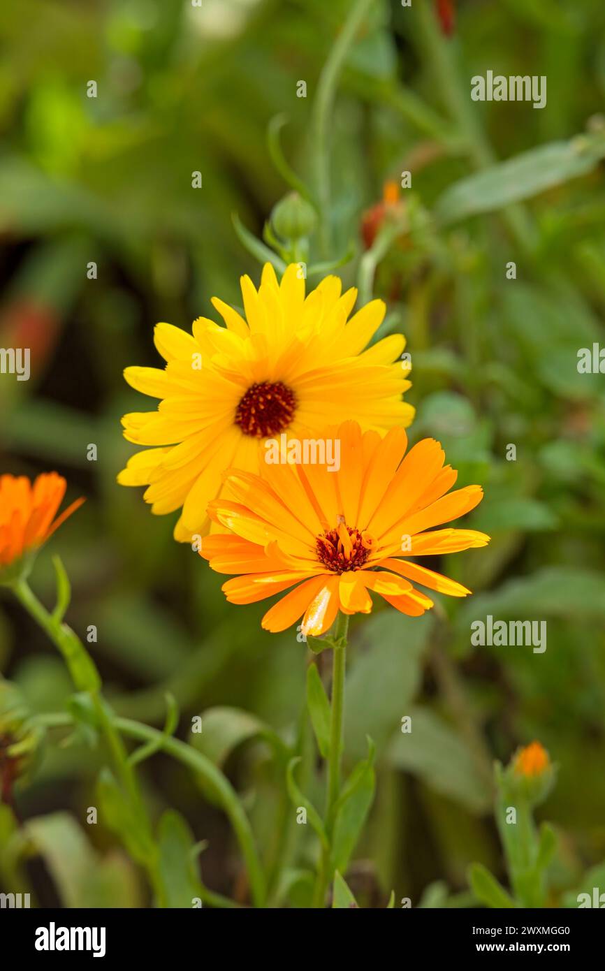
[[[312,184],[314,94],[351,6],[30,0],[0,14],[0,346],[32,352],[29,382],[0,376],[0,469],[56,469],[71,497],[86,496],[52,540],[74,587],[68,619],[81,635],[96,625],[90,650],[118,712],[161,727],[168,690],[183,738],[192,716],[220,706],[291,736],[309,657],[295,631],[260,630],[261,608],[227,605],[220,578],[173,541],[174,518],[151,517],[141,490],[116,484],[134,451],[119,418],[145,407],[121,372],[158,364],[156,321],[188,327],[213,316],[213,295],[241,304],[241,274],[258,279],[232,216],[260,238],[288,189],[268,147],[277,115],[284,155]],[[383,186],[410,170],[412,188],[390,214],[402,229],[373,284],[388,304],[382,333],[408,338],[412,438],[437,437],[459,484],[485,485],[465,525],[493,537],[447,568],[431,564],[474,597],[437,594],[423,619],[383,610],[353,622],[347,758],[363,755],[366,734],[379,758],[348,877],[364,906],[385,906],[391,888],[415,905],[472,904],[473,860],[505,881],[491,762],[534,738],[558,763],[539,810],[559,839],[551,903],[605,857],[605,378],[577,370],[580,348],[605,345],[604,27],[599,0],[376,0],[343,65],[329,124],[329,255],[353,242],[338,272],[346,285],[360,270],[367,279]],[[547,107],[471,102],[470,78],[487,69],[546,75]],[[548,158],[491,169],[545,146]],[[41,555],[33,586],[50,604],[49,560]],[[547,620],[546,653],[472,648],[470,624],[487,614]],[[61,661],[8,596],[0,666],[34,710],[56,711],[70,693]],[[405,715],[413,747],[399,730]],[[225,743],[220,757],[270,858],[284,807],[254,720],[229,722],[244,744]],[[37,820],[26,872],[41,906],[150,904],[115,837],[84,825],[95,759],[81,743],[47,745],[17,788],[19,820]],[[176,807],[208,840],[207,886],[237,897],[223,816],[166,756],[142,771],[153,812]],[[313,840],[295,835],[303,866]]]

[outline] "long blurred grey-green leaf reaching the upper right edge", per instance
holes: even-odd
[[[580,135],[568,142],[524,151],[451,185],[437,200],[435,216],[450,223],[502,209],[587,175],[603,157],[605,140],[601,134]]]

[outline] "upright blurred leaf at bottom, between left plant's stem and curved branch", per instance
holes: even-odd
[[[162,814],[157,841],[164,895],[162,906],[190,908],[194,897],[203,896],[203,887],[195,865],[195,840],[187,823],[175,810],[167,809]]]

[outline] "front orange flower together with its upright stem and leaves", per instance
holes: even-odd
[[[260,474],[234,469],[222,496],[209,506],[217,532],[201,555],[219,573],[239,574],[222,587],[227,599],[247,604],[281,594],[262,625],[284,630],[302,618],[301,631],[315,652],[332,650],[328,701],[317,668],[308,676],[308,705],[319,753],[327,761],[323,818],[297,787],[288,767],[295,806],[303,806],[319,835],[321,855],[314,896],[323,906],[327,884],[344,870],[353,852],[374,787],[373,748],[343,785],[341,758],[345,659],[349,618],[372,611],[371,593],[391,607],[420,617],[433,601],[415,584],[451,596],[470,590],[402,556],[457,552],[483,547],[485,533],[433,529],[469,512],[483,490],[469,485],[451,492],[456,472],[445,465],[438,442],[424,439],[407,452],[403,428],[387,435],[362,433],[355,421],[324,430],[339,443],[340,467],[325,464],[268,464]],[[407,453],[406,453],[407,452]],[[322,639],[321,635],[325,635]]]

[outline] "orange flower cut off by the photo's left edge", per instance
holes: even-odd
[[[0,476],[0,582],[9,579],[9,569],[46,543],[82,506],[84,498],[76,499],[54,519],[65,486],[56,472],[45,472],[34,483],[25,476]]]

